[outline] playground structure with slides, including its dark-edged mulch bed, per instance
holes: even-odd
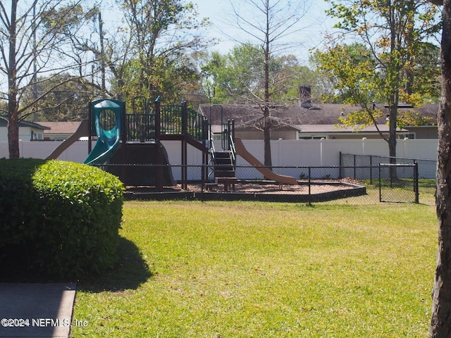
[[[127,188],[128,199],[199,197],[311,201],[311,192],[314,189],[311,189],[310,180],[306,185],[306,182],[297,181],[295,177],[278,175],[263,165],[247,151],[241,139],[235,137],[233,120],[223,121],[221,106],[211,106],[209,116],[209,120],[212,120],[214,113],[221,114],[221,141],[214,141],[209,120],[188,108],[186,102],[163,106],[160,97],[153,104],[149,104],[143,97],[137,97],[132,100],[130,106],[132,113],[125,111],[123,101],[99,99],[90,102],[87,120],[83,120],[78,130],[59,144],[47,158],[58,158],[70,144],[80,137],[87,137],[89,154],[84,162],[97,165],[118,176]],[[94,140],[96,143],[93,147]],[[180,168],[178,182],[173,178],[172,167],[162,141],[178,141],[181,144],[181,165],[176,166]],[[188,145],[202,153],[202,165],[199,166],[200,182],[199,178],[196,182],[188,181]],[[237,179],[237,156],[250,163],[252,168],[261,174],[260,179],[254,180],[259,186],[258,191],[252,192],[254,188],[249,189],[248,180]],[[239,184],[236,190],[235,184]],[[270,187],[271,184],[274,188]],[[282,189],[284,184],[289,186]],[[332,187],[330,184],[319,185],[323,190],[326,186]],[[366,194],[364,187],[339,185],[327,189],[327,192],[313,194],[316,200]],[[184,192],[180,192],[178,187]],[[261,192],[262,189],[267,192]],[[223,194],[224,192],[228,194]]]

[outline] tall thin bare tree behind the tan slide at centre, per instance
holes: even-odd
[[[236,27],[245,32],[248,41],[236,39],[240,44],[259,44],[263,55],[263,83],[261,91],[249,89],[249,101],[258,105],[262,118],[259,125],[264,135],[264,164],[271,167],[271,129],[277,120],[271,117],[271,111],[276,105],[271,96],[275,92],[276,83],[271,76],[271,58],[286,51],[288,37],[302,30],[299,22],[307,13],[307,1],[280,1],[280,0],[240,0],[232,4],[233,15],[236,18]],[[240,12],[238,4],[247,8],[246,14]],[[295,39],[290,40],[290,46],[294,45]]]

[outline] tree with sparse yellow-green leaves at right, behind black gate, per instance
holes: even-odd
[[[352,35],[359,43],[330,44],[319,53],[320,68],[333,79],[342,101],[362,108],[344,123],[376,124],[381,111],[373,101],[388,105],[390,132],[385,140],[394,157],[400,102],[418,104],[422,95],[437,89],[431,78],[438,79],[438,62],[426,56],[436,55],[429,41],[440,31],[438,8],[426,0],[330,3],[328,14],[338,18],[342,37]]]

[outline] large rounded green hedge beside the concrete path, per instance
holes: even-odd
[[[0,159],[0,259],[59,277],[101,272],[116,261],[123,184],[66,161]]]

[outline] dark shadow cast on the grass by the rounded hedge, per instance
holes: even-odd
[[[80,277],[77,289],[84,292],[121,292],[126,289],[137,289],[150,277],[152,273],[142,259],[138,247],[121,237],[118,262],[114,268],[99,275]]]

